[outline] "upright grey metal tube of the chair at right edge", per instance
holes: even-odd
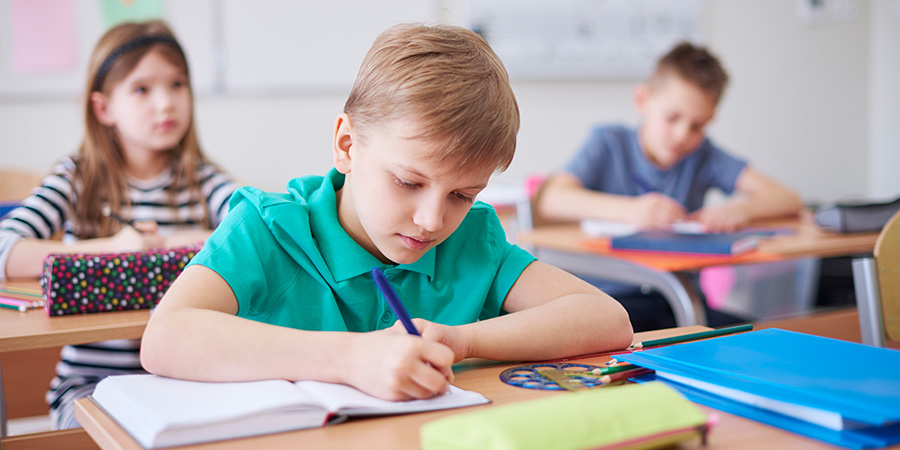
[[[859,331],[862,343],[884,347],[881,293],[878,290],[878,269],[874,258],[853,259],[853,291],[859,310]]]

